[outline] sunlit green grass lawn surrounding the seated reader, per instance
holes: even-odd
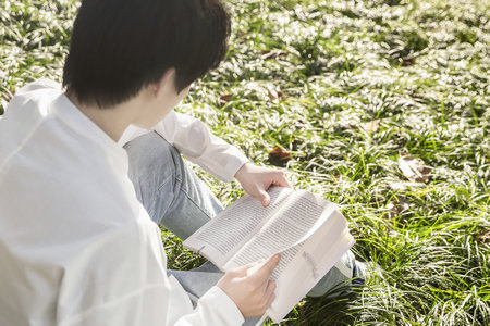
[[[382,268],[281,325],[489,325],[490,3],[228,2],[228,58],[180,110],[338,203],[357,258]],[[60,80],[76,3],[0,0],[0,113]],[[225,205],[243,193],[197,172]],[[163,241],[170,267],[203,262]]]

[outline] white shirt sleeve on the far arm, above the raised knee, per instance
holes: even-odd
[[[249,162],[242,151],[212,135],[201,121],[187,114],[171,111],[154,129],[186,159],[220,180],[232,181],[240,167]],[[130,126],[119,142],[124,145],[146,133],[148,130]]]

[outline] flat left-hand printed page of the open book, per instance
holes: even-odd
[[[257,198],[245,195],[186,239],[184,247],[199,252],[222,268],[224,262],[260,229],[294,190],[272,187],[268,192],[270,204],[267,208]]]

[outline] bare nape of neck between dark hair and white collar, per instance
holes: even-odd
[[[94,104],[81,103],[77,97],[69,91],[66,91],[66,97],[83,114],[115,142],[119,141],[124,130],[134,121],[134,108],[137,108],[137,99],[112,108],[99,108]]]

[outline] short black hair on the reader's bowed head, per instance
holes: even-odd
[[[229,35],[220,0],[83,0],[63,86],[81,103],[111,108],[174,67],[180,92],[219,65]]]

